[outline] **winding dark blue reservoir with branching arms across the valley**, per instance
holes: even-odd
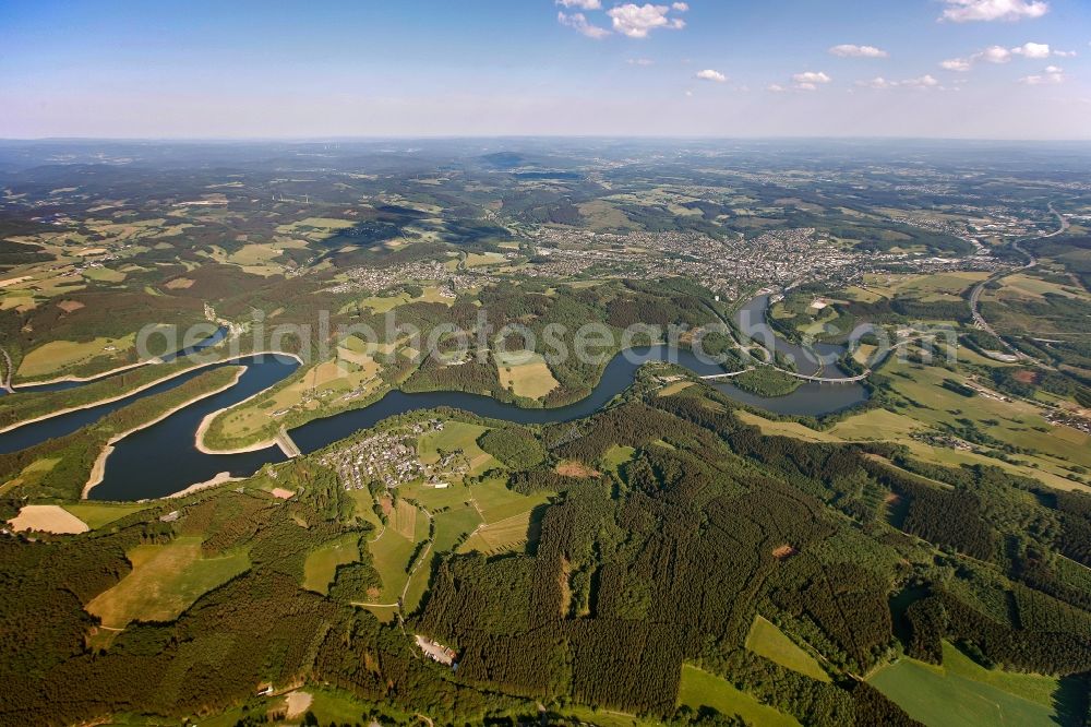
[[[751,314],[754,314],[756,311],[764,311],[767,305],[767,298],[756,299],[747,308],[751,309]],[[801,371],[818,370],[819,364],[817,361],[808,364],[810,359],[804,357],[802,349],[780,339],[778,339],[777,346],[780,350],[799,357],[798,367]],[[826,348],[823,353],[834,355],[836,358],[836,354],[839,353],[838,347],[828,346]],[[387,417],[440,406],[459,408],[482,417],[518,424],[547,424],[578,419],[602,408],[614,396],[628,388],[637,369],[646,361],[651,360],[670,360],[688,368],[698,376],[723,372],[719,366],[700,360],[687,350],[666,346],[637,348],[615,356],[607,365],[602,379],[589,396],[560,408],[525,409],[489,396],[463,392],[405,393],[393,391],[371,406],[316,419],[292,429],[290,434],[300,450],[307,454],[349,437],[360,429],[372,427]],[[206,415],[238,404],[257,392],[264,391],[288,377],[299,366],[295,359],[276,356],[243,358],[215,366],[228,366],[235,362],[247,366],[245,372],[235,386],[196,402],[163,421],[134,432],[118,442],[115,445],[115,451],[107,458],[103,482],[91,491],[91,498],[95,500],[158,498],[178,492],[194,482],[212,479],[223,472],[244,477],[260,469],[265,463],[283,462],[285,455],[276,446],[256,452],[226,455],[204,454],[195,446],[196,429]],[[0,434],[0,453],[24,449],[51,437],[60,437],[75,431],[135,398],[178,386],[207,368],[187,372],[169,382],[157,384],[111,404],[62,415]],[[740,391],[729,383],[716,384],[716,388],[739,402],[778,414],[828,414],[859,404],[867,397],[866,390],[860,384],[806,383],[787,396],[775,398],[755,396]]]

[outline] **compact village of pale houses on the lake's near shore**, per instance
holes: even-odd
[[[332,467],[345,489],[365,489],[371,482],[387,488],[424,480],[437,489],[447,487],[445,478],[468,470],[458,453],[440,456],[435,464],[424,464],[417,454],[417,440],[427,433],[443,431],[443,421],[429,419],[397,429],[376,432],[324,454],[319,461]]]

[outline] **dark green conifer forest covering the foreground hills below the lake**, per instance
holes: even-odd
[[[897,448],[764,437],[700,384],[631,392],[575,428],[491,440],[525,467],[507,473],[513,489],[550,493],[538,532],[523,552],[441,558],[404,623],[352,606],[382,580],[362,547],[374,534],[316,458],[87,535],[3,538],[0,722],[245,707],[254,724],[259,688],[305,682],[350,692],[387,722],[511,724],[537,719],[540,703],[558,723],[589,705],[729,724],[676,708],[693,665],[802,724],[913,724],[861,680],[902,651],[936,662],[944,640],[1086,693],[1086,497],[922,465]],[[328,593],[305,589],[309,553],[344,538],[360,560],[337,569]],[[182,540],[209,559],[244,552],[249,567],[177,618],[105,634],[84,609],[130,573],[127,552]],[[816,672],[747,648],[757,615]],[[413,633],[454,648],[458,668],[421,658]],[[1079,724],[1087,704],[1065,708]]]

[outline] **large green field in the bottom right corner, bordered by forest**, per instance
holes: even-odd
[[[985,669],[947,643],[942,667],[903,658],[867,681],[930,727],[1057,724],[1057,679]]]

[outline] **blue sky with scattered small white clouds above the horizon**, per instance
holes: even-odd
[[[1089,59],[1088,0],[0,0],[0,136],[1088,139]]]

